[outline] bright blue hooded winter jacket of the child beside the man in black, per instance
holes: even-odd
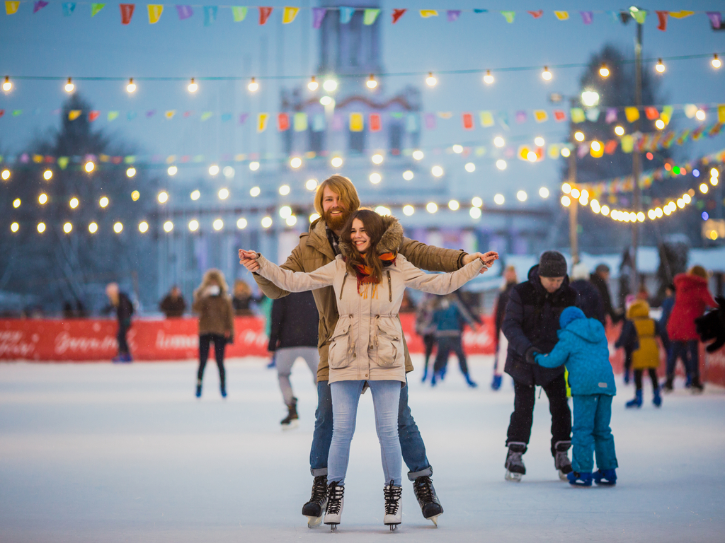
[[[559,341],[551,353],[537,354],[537,363],[545,368],[566,365],[572,395],[616,395],[602,323],[597,319],[587,319],[576,307],[566,308],[559,321]]]

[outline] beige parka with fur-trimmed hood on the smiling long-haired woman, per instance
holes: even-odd
[[[402,227],[385,217],[386,232],[376,246],[378,254],[395,251],[402,242]],[[349,244],[341,243],[349,254]],[[398,254],[394,264],[383,270],[379,285],[368,285],[363,295],[357,291],[357,278],[349,274],[342,255],[309,273],[294,272],[272,264],[263,256],[257,271],[289,292],[333,287],[339,319],[331,334],[328,350],[329,382],[397,380],[405,383],[406,350],[398,319],[405,287],[432,294],[448,294],[479,274],[483,263],[476,259],[447,274],[426,274]],[[363,292],[361,287],[360,292]]]

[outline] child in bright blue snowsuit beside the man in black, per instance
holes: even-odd
[[[618,464],[609,423],[616,387],[604,327],[597,319],[587,319],[576,307],[562,311],[559,324],[555,348],[535,358],[540,366],[556,368],[564,364],[569,372],[574,422],[573,471],[567,477],[571,484],[585,487],[591,487],[592,480],[615,484]],[[595,453],[599,471],[592,474]]]

